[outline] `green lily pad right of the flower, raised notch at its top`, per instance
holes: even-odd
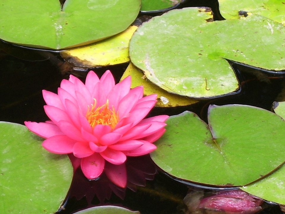
[[[244,186],[284,163],[285,121],[253,106],[210,106],[207,125],[184,112],[167,119],[153,161],[178,179]]]

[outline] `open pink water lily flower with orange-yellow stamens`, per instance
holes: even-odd
[[[25,125],[45,138],[42,146],[46,150],[80,158],[88,179],[99,177],[106,161],[118,166],[108,170],[110,180],[124,177],[126,156],[155,150],[152,143],[164,133],[168,118],[159,115],[143,119],[155,105],[156,95],[143,97],[142,86],[130,86],[130,76],[115,84],[109,70],[100,79],[90,71],[85,84],[70,75],[69,80],[61,81],[58,94],[42,92],[50,121]]]

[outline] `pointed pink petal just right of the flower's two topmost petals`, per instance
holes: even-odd
[[[120,100],[129,93],[130,87],[131,76],[124,78],[121,82],[116,84],[107,95],[110,106],[118,109]]]

